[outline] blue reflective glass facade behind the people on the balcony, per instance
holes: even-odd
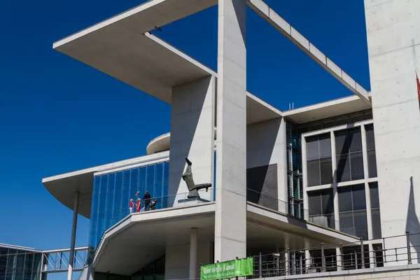
[[[143,198],[146,190],[157,200],[156,209],[167,207],[169,161],[94,176],[90,216],[90,251],[104,232],[130,214],[130,199]]]

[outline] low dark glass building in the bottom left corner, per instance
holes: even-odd
[[[0,280],[39,280],[42,253],[0,246]]]

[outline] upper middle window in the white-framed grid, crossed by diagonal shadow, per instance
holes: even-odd
[[[365,178],[363,173],[362,136],[360,127],[335,132],[337,182]]]

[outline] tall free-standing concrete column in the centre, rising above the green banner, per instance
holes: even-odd
[[[215,260],[246,257],[246,0],[218,1]]]

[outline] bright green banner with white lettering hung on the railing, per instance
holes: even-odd
[[[201,267],[200,280],[227,279],[253,274],[253,258],[241,258]]]

